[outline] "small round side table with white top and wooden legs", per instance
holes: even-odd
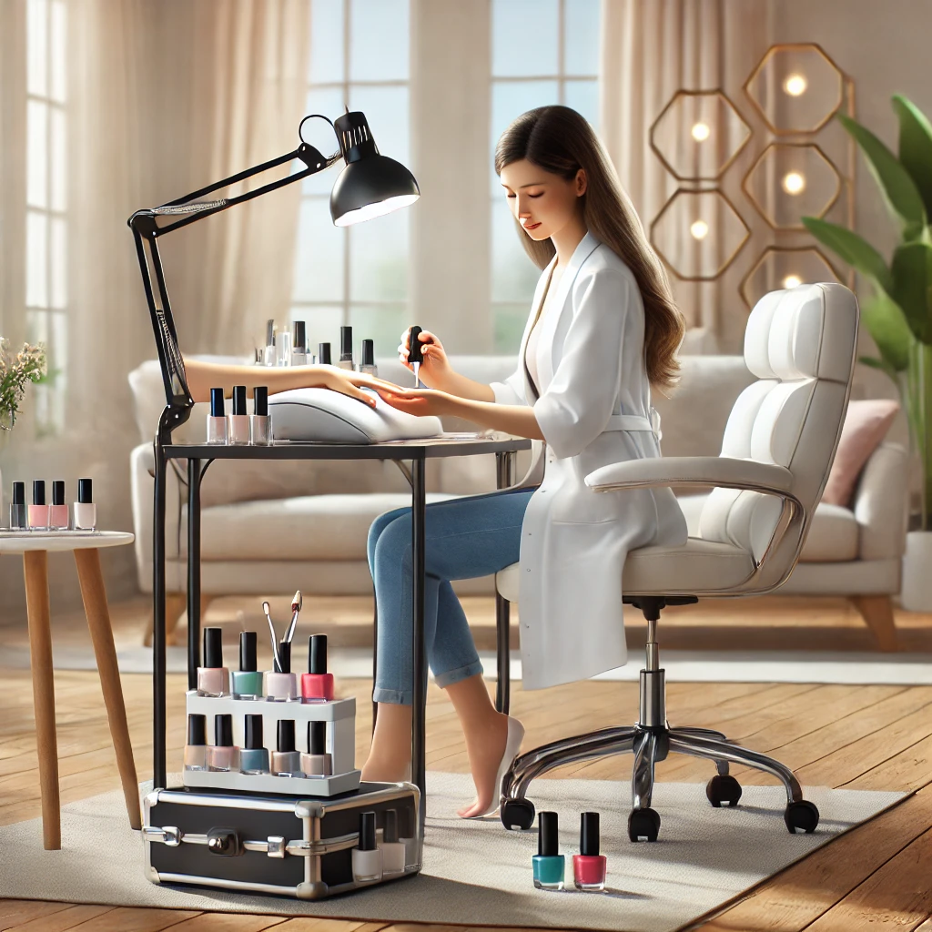
[[[17,531],[0,535],[0,555],[21,554],[26,580],[26,612],[29,619],[29,653],[33,668],[35,740],[39,757],[39,788],[42,795],[42,841],[47,850],[62,847],[62,811],[59,797],[58,740],[55,735],[55,687],[52,675],[52,637],[48,612],[48,554],[75,552],[81,583],[84,613],[94,644],[101,677],[103,703],[110,734],[117,752],[117,767],[130,814],[130,825],[141,829],[139,784],[132,758],[130,729],[126,720],[123,688],[117,669],[110,612],[103,588],[100,550],[132,543],[133,535],[121,531],[93,534]]]

